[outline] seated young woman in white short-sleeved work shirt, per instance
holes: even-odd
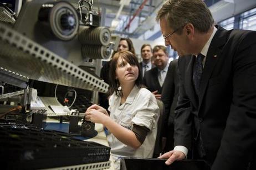
[[[110,63],[110,116],[106,109],[92,105],[85,119],[103,124],[115,168],[120,157],[151,158],[157,135],[159,108],[155,96],[141,84],[139,62],[134,54],[121,50]]]

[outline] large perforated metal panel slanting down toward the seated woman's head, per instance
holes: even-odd
[[[0,23],[0,67],[39,81],[107,92],[108,84]]]

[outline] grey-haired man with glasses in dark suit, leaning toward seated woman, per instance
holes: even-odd
[[[202,0],[168,0],[157,21],[178,52],[175,148],[166,164],[206,160],[212,169],[255,169],[256,32],[215,27]]]

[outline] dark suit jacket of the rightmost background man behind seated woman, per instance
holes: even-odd
[[[160,86],[157,76],[157,67],[151,68],[151,70],[145,72],[142,84],[144,84],[150,92],[158,91],[157,94],[161,94],[162,87]]]

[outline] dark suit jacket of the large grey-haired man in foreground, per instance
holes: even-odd
[[[218,28],[206,56],[198,99],[192,83],[194,58],[178,61],[175,146],[191,149],[191,140],[201,130],[212,169],[245,169],[256,147],[256,32]]]

